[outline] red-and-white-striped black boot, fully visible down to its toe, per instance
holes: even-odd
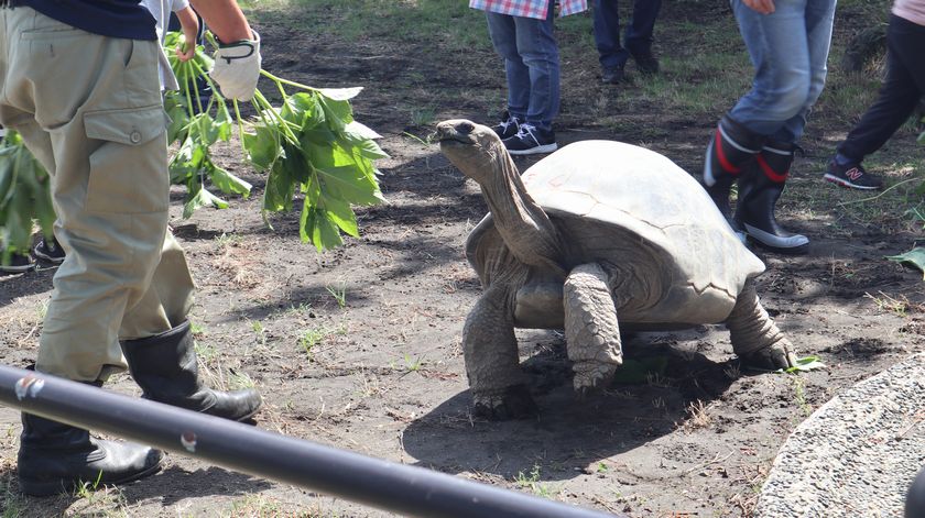
[[[771,252],[801,255],[809,252],[809,240],[782,229],[774,217],[774,207],[784,185],[796,151],[794,144],[769,142],[739,179],[739,202],[736,224],[759,246]]]

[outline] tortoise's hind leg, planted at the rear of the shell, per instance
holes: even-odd
[[[793,344],[761,307],[754,280],[748,279],[726,319],[732,351],[748,365],[790,368],[796,365]]]

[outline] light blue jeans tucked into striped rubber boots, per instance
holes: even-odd
[[[776,141],[795,143],[826,82],[836,0],[783,0],[759,14],[731,0],[755,74],[729,117]]]

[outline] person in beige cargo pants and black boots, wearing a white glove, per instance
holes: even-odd
[[[221,42],[213,78],[250,99],[260,41],[235,0],[193,2]],[[216,392],[196,372],[186,320],[193,279],[167,230],[165,114],[153,19],[138,0],[0,2],[0,124],[22,134],[52,176],[66,258],[35,370],[101,385],[128,368],[144,397],[243,420],[254,390]],[[118,22],[118,23],[117,23]],[[23,414],[18,472],[31,495],[156,472],[161,452],[104,441]]]

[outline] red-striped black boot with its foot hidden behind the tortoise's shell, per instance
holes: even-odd
[[[716,126],[704,159],[704,187],[726,219],[731,216],[729,190],[753,163],[764,141],[764,135],[750,131],[728,114]]]

